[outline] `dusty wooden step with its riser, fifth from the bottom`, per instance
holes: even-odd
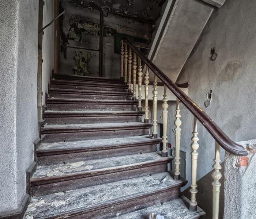
[[[41,128],[43,142],[81,141],[113,137],[148,135],[151,123],[46,124]],[[104,140],[103,140],[104,141]]]

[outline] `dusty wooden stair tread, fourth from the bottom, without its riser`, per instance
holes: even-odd
[[[110,148],[118,148],[132,145],[142,145],[147,143],[160,143],[162,138],[147,138],[147,137],[129,137],[129,138],[109,138],[109,139],[93,139],[86,141],[75,142],[54,142],[41,143],[37,149],[37,155],[52,153],[53,151],[91,151],[103,150]]]

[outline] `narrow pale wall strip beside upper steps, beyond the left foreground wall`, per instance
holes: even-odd
[[[43,27],[49,24],[54,18],[53,0],[44,0]],[[45,93],[48,93],[48,84],[53,67],[54,54],[54,23],[44,30],[42,42],[42,105],[45,104]]]

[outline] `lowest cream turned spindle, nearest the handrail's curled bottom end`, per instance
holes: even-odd
[[[219,144],[215,142],[215,164],[213,165],[214,172],[212,172],[211,176],[214,179],[212,182],[212,219],[218,219],[219,218],[219,192],[221,183],[219,180],[221,179],[222,175],[219,170],[221,169],[221,165],[219,164],[221,162],[220,156],[219,156]]]

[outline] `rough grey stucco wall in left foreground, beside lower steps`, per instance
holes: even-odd
[[[37,124],[38,1],[0,1],[0,212],[26,193]]]

